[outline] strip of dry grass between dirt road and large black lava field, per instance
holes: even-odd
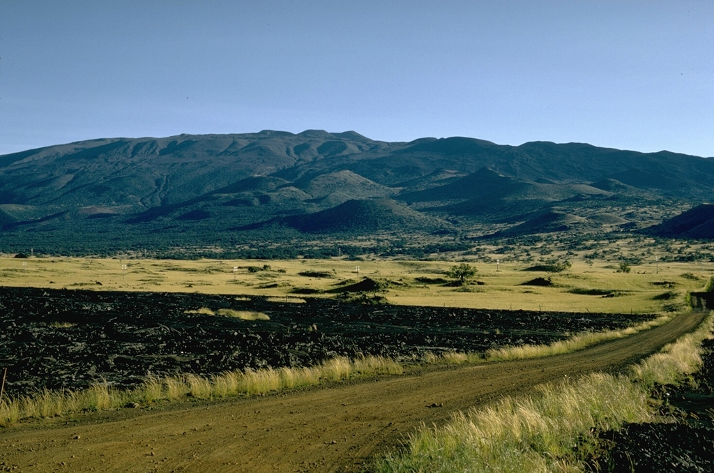
[[[236,312],[236,311],[233,311]],[[216,314],[202,307],[192,313]],[[220,314],[220,310],[218,311]],[[261,313],[249,313],[259,317]],[[267,317],[267,316],[265,316]],[[523,345],[492,349],[480,352],[427,353],[418,360],[423,364],[480,364],[510,359],[547,357],[585,349],[593,344],[628,337],[643,330],[668,322],[671,314],[637,324],[628,329],[576,334],[570,339],[543,345]],[[259,318],[258,318],[259,319]],[[405,364],[386,357],[363,357],[347,359],[336,357],[315,367],[279,369],[247,369],[199,377],[181,374],[169,377],[149,377],[137,389],[123,390],[106,383],[95,383],[80,391],[43,390],[34,394],[9,399],[0,399],[0,426],[14,424],[21,419],[47,418],[72,412],[94,412],[119,407],[139,407],[155,402],[174,402],[181,399],[221,399],[232,396],[255,396],[282,389],[316,386],[323,382],[335,382],[354,377],[373,377],[380,374],[402,374],[408,369]]]

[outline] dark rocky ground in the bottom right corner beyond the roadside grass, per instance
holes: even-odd
[[[670,423],[629,424],[603,432],[607,452],[593,462],[602,472],[714,471],[714,340],[704,343],[704,367],[694,388],[658,389]]]

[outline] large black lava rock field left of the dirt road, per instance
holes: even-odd
[[[269,320],[192,314],[256,311]],[[635,316],[642,320],[642,316]],[[131,387],[149,374],[215,374],[304,366],[328,357],[483,351],[616,329],[613,314],[345,304],[326,299],[0,288],[0,369],[11,396],[77,389],[96,380]]]

